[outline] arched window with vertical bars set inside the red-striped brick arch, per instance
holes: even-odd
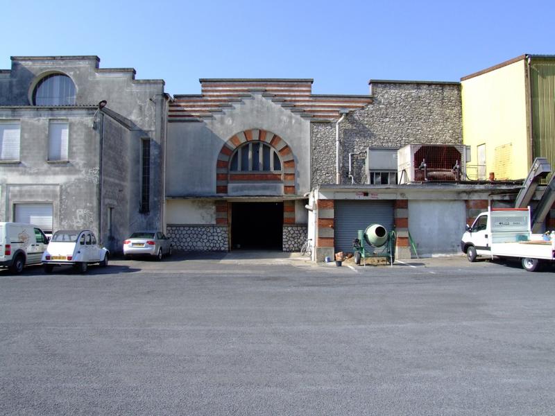
[[[275,149],[262,141],[248,141],[235,150],[231,157],[230,171],[280,172],[282,162]]]

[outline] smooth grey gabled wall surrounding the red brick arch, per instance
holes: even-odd
[[[309,191],[310,123],[254,93],[241,103],[201,122],[168,125],[167,196],[212,196],[216,193],[216,160],[222,146],[244,130],[262,129],[280,136],[296,162],[297,193]]]

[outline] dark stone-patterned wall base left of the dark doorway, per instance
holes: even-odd
[[[228,227],[218,225],[168,225],[173,247],[185,252],[228,251]]]

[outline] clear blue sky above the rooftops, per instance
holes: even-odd
[[[314,78],[315,94],[368,80],[457,81],[522,53],[555,54],[555,1],[0,0],[11,55],[98,55],[163,78]]]

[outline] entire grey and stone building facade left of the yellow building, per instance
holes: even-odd
[[[371,80],[361,96],[312,83],[202,79],[200,94],[171,97],[94,56],[12,58],[0,218],[89,227],[116,252],[139,229],[182,251],[297,251],[308,238],[318,261],[380,223],[407,258],[459,252],[477,207],[517,193],[465,182],[459,83]],[[427,171],[438,155],[443,172]]]

